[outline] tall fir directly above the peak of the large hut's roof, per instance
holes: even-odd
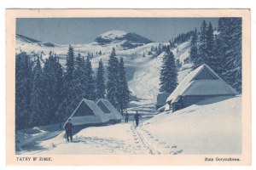
[[[207,60],[207,22],[204,20],[201,24],[201,35],[199,37],[199,63],[206,63]]]

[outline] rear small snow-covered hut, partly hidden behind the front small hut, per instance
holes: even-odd
[[[99,99],[96,104],[102,109],[105,115],[108,116],[109,122],[121,122],[123,117],[120,112],[113,107],[108,99]]]

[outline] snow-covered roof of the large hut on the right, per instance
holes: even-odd
[[[198,78],[201,77],[204,71],[207,71],[212,78]],[[237,92],[228,83],[218,76],[208,65],[200,65],[194,71],[191,71],[182,82],[180,82],[166,99],[166,102],[173,103],[180,96],[188,95],[236,95]]]

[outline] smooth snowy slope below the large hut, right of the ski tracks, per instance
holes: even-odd
[[[241,154],[241,97],[205,99],[143,127],[183,154]]]

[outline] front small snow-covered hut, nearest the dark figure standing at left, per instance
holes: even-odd
[[[73,126],[76,130],[83,127],[106,125],[109,121],[108,116],[103,113],[94,101],[89,99],[82,99],[68,119],[72,120]],[[67,122],[65,122],[65,124],[66,123]]]

